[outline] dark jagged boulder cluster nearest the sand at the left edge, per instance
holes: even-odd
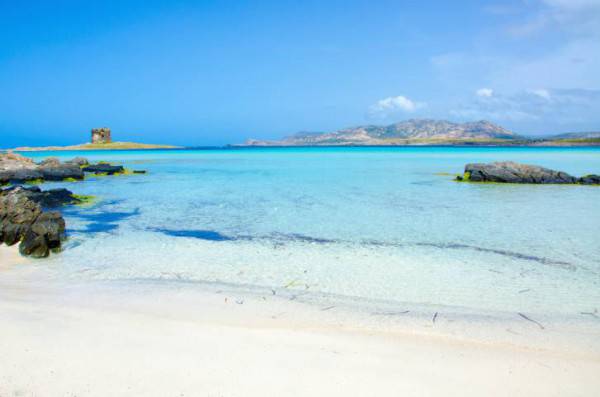
[[[23,188],[0,191],[0,244],[20,242],[22,255],[43,258],[60,249],[65,221],[59,212],[44,212],[30,193]]]

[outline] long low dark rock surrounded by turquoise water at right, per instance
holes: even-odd
[[[588,175],[577,178],[562,171],[520,164],[512,161],[495,163],[472,163],[465,166],[459,181],[498,182],[498,183],[533,183],[533,184],[598,184],[600,177]]]

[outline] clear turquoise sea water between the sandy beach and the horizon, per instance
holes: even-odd
[[[597,148],[289,148],[36,153],[147,175],[55,183],[56,277],[220,282],[481,311],[600,308],[600,188],[468,184],[514,160],[600,173]]]

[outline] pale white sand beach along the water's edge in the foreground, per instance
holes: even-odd
[[[8,258],[6,247],[0,255]],[[69,290],[50,281],[45,287],[5,269],[0,396],[600,392],[595,353],[374,330],[321,321],[295,302],[244,299],[179,289]]]

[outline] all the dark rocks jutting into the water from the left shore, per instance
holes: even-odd
[[[142,173],[144,171],[135,171]],[[40,163],[16,153],[0,154],[0,244],[19,243],[22,255],[43,258],[61,249],[65,239],[65,220],[56,209],[81,204],[88,197],[77,196],[67,189],[42,190],[25,183],[78,181],[86,173],[117,175],[127,173],[120,165],[90,164],[82,157],[61,162],[48,158]]]

